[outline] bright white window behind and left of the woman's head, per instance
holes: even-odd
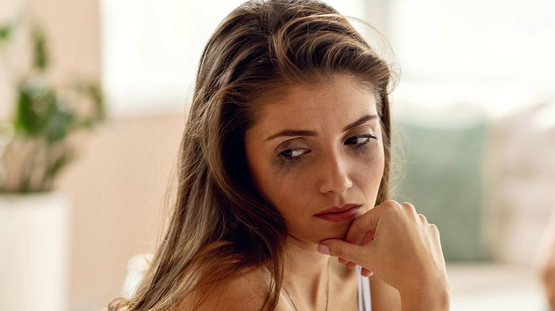
[[[115,114],[184,109],[202,49],[243,1],[102,0],[102,81]],[[364,0],[327,1],[365,18]]]

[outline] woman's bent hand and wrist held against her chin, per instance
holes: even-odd
[[[356,263],[362,273],[374,273],[401,295],[403,310],[443,310],[449,305],[445,260],[439,231],[410,203],[389,200],[351,224],[345,241],[322,241],[318,251]],[[422,300],[434,301],[422,301]],[[432,307],[423,309],[423,307]]]

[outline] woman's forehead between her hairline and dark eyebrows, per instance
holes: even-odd
[[[349,123],[364,114],[378,114],[374,91],[350,77],[283,87],[265,99],[259,112],[255,124],[302,128]]]

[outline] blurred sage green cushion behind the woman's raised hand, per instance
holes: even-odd
[[[400,153],[399,143],[403,151],[393,199],[413,203],[438,227],[446,261],[487,259],[482,231],[487,123],[401,120],[394,126],[393,153]]]

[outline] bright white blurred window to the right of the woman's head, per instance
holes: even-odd
[[[555,2],[392,0],[388,38],[407,101],[499,115],[555,94]]]

